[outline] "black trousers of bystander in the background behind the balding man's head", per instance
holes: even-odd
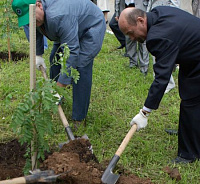
[[[110,20],[109,26],[112,32],[114,33],[114,35],[116,36],[117,40],[120,42],[120,44],[125,45],[125,36],[119,29],[118,22],[115,20],[115,17],[116,17],[116,14],[114,13],[114,15],[112,16],[112,19]]]

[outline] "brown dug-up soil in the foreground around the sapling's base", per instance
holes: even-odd
[[[0,144],[0,180],[23,176],[25,149],[26,145],[21,146],[17,140]],[[101,184],[101,176],[108,162],[98,163],[89,140],[79,138],[65,144],[59,152],[49,155],[40,170],[53,170],[55,174],[60,174],[54,183]],[[123,168],[117,170],[120,173],[117,184],[151,183],[150,179],[141,179]]]

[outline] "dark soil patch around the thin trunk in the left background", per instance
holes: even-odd
[[[23,58],[27,58],[29,57],[27,54],[25,53],[18,53],[18,52],[11,52],[11,60],[12,61],[18,61],[21,60]],[[0,60],[3,61],[8,61],[8,52],[0,52]]]

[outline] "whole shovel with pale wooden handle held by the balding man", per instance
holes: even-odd
[[[122,141],[121,145],[119,146],[118,150],[116,151],[115,155],[113,156],[112,160],[110,161],[108,167],[104,171],[101,181],[104,184],[115,184],[117,180],[119,179],[119,174],[114,174],[113,169],[115,168],[117,162],[120,159],[121,154],[123,153],[124,149],[126,148],[127,144],[129,143],[131,137],[137,130],[137,125],[134,124],[129,132],[126,134],[126,137]]]

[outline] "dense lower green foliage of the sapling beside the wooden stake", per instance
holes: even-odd
[[[56,83],[40,78],[37,80],[36,89],[24,95],[23,102],[19,103],[13,116],[11,128],[19,136],[21,144],[27,143],[31,146],[34,140],[34,152],[37,159],[44,159],[44,151],[49,151],[47,136],[53,135],[52,113],[57,112],[56,102],[58,98],[54,95]],[[30,153],[30,150],[27,149]]]

